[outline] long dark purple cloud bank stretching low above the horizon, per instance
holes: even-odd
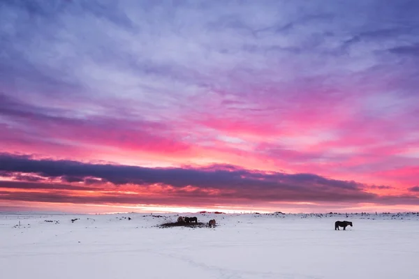
[[[0,167],[3,172],[31,173],[50,179],[61,179],[68,182],[80,182],[87,179],[101,179],[102,185],[97,183],[96,190],[107,190],[103,182],[110,182],[117,186],[136,185],[138,190],[152,185],[172,186],[164,194],[153,197],[115,196],[105,197],[68,197],[64,193],[43,193],[42,197],[52,200],[56,197],[59,201],[93,202],[174,202],[175,199],[194,197],[195,202],[211,202],[212,196],[208,190],[217,190],[216,197],[230,202],[248,200],[254,202],[397,202],[397,197],[380,197],[376,194],[365,192],[366,186],[355,181],[339,181],[327,179],[315,174],[284,174],[264,173],[240,169],[237,167],[197,168],[148,168],[127,165],[95,165],[68,160],[33,160],[27,156],[12,156],[2,154]],[[10,188],[45,188],[53,189],[54,184],[15,182],[8,184],[3,181],[3,186]],[[45,186],[43,186],[45,185]],[[188,187],[193,187],[188,189]],[[73,187],[73,188],[72,188]],[[87,190],[91,188],[57,185],[59,189]],[[150,190],[152,193],[152,190]],[[2,199],[21,197],[22,193],[9,193]],[[38,194],[34,193],[34,199]],[[64,196],[63,196],[64,195]],[[409,202],[416,197],[403,196],[400,201]],[[43,201],[38,200],[38,201]]]

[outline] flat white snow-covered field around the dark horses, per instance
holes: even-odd
[[[3,213],[0,278],[419,278],[419,214],[161,216]]]

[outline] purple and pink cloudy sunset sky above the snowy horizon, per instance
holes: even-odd
[[[0,1],[0,211],[419,211],[418,13]]]

